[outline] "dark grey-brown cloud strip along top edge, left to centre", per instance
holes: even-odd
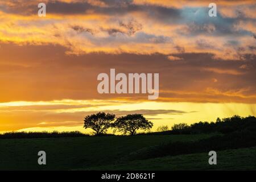
[[[10,0],[9,0],[10,1]],[[154,5],[135,5],[133,1],[102,1],[107,6],[94,6],[88,2],[60,2],[51,1],[47,3],[47,13],[52,14],[106,14],[106,15],[123,15],[127,13],[140,12],[145,13],[150,18],[171,20],[180,18],[180,11],[178,9],[154,6]],[[2,6],[1,9],[6,13],[14,14],[37,14],[38,2],[28,1],[23,3],[23,6],[19,6],[19,3],[12,3],[12,6]]]

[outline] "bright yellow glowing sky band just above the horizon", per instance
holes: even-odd
[[[88,104],[90,104],[88,106]],[[48,106],[56,106],[48,108]],[[71,108],[61,109],[61,107],[73,106]],[[32,106],[26,107],[26,106]],[[40,107],[37,110],[36,106]],[[45,108],[44,108],[45,106]],[[81,106],[81,107],[76,107]],[[34,109],[33,109],[34,108]],[[98,111],[108,111],[114,114],[121,113],[139,113],[147,111],[144,116],[154,123],[151,131],[155,131],[161,125],[171,127],[174,123],[185,122],[188,124],[199,121],[216,121],[217,117],[231,117],[232,115],[256,115],[256,104],[240,104],[240,103],[193,103],[193,102],[129,102],[126,101],[110,101],[110,100],[92,100],[92,101],[76,101],[76,100],[60,100],[48,102],[7,102],[0,104],[0,121],[5,125],[15,122],[16,119],[27,119],[24,126],[20,124],[18,131],[81,131],[90,133],[90,130],[82,128],[82,118],[85,114],[96,113]],[[158,113],[154,114],[154,110]],[[164,110],[170,110],[166,113]],[[173,110],[173,111],[172,111]],[[153,113],[151,113],[151,111]],[[180,112],[179,112],[180,111]],[[8,114],[12,117],[8,117]],[[67,117],[67,113],[74,116]],[[40,115],[52,115],[52,117],[41,117]],[[57,114],[57,115],[55,115]],[[76,118],[81,118],[76,120]],[[48,121],[47,121],[48,119]],[[56,120],[56,121],[55,121]],[[24,121],[26,122],[26,121]],[[67,126],[65,126],[67,124]],[[11,125],[10,125],[11,126]],[[2,128],[3,131],[11,131],[10,126]],[[14,126],[14,125],[13,125]],[[11,126],[11,127],[13,127]]]

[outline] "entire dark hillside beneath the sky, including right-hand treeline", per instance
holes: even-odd
[[[0,135],[0,170],[256,169],[256,118],[239,117],[174,125],[133,136],[72,133]],[[45,151],[47,165],[38,164]],[[217,152],[217,165],[208,152]]]

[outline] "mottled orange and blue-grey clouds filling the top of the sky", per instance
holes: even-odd
[[[218,2],[220,10],[229,6],[243,15],[225,16],[220,11],[216,18],[208,16],[203,1],[49,0],[45,18],[37,16],[35,1],[18,6],[20,2],[0,3],[2,42],[60,45],[71,55],[210,52],[232,60],[255,51],[253,1]],[[227,47],[229,41],[240,44]]]

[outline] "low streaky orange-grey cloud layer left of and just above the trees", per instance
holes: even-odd
[[[61,105],[58,104],[63,103]],[[65,102],[67,102],[65,104]],[[156,115],[182,115],[191,113],[189,111],[182,110],[165,110],[165,109],[139,109],[139,110],[104,110],[98,109],[102,106],[111,106],[108,105],[108,101],[90,101],[94,105],[89,107],[80,107],[81,105],[72,105],[79,104],[80,102],[88,101],[55,101],[55,102],[14,102],[6,103],[9,105],[7,107],[0,107],[0,119],[2,121],[0,126],[1,130],[19,130],[29,127],[56,127],[56,126],[81,126],[83,119],[86,115],[97,113],[98,111],[104,111],[106,113],[114,113],[117,117],[126,114],[143,114],[146,118],[148,116]],[[100,104],[104,102],[104,104]],[[40,104],[40,105],[36,105]],[[47,105],[51,103],[51,106]],[[56,103],[56,104],[55,104]],[[19,106],[16,106],[19,104]],[[30,105],[28,105],[30,104]],[[113,104],[113,103],[112,103]],[[118,102],[118,104],[125,104],[125,102]],[[14,105],[14,106],[12,106]],[[113,106],[113,105],[112,105]],[[155,118],[157,119],[157,118]]]

